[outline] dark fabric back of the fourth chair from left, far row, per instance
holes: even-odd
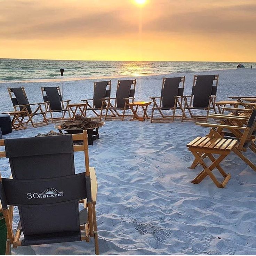
[[[133,89],[131,87],[133,86]],[[136,87],[136,79],[134,80],[118,80],[117,94],[115,99],[115,106],[123,108],[125,107],[125,98],[134,98]]]

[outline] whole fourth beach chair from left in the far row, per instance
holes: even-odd
[[[134,94],[136,88],[136,79],[134,80],[118,80],[117,82],[117,94],[115,98],[104,98],[102,99],[102,110],[105,107],[105,120],[107,118],[121,118],[124,117],[133,117],[132,115],[125,115],[125,111],[130,109],[129,103],[134,102]],[[115,103],[112,104],[111,100],[115,100]],[[101,111],[102,111],[101,110]],[[118,110],[122,110],[120,114]],[[108,111],[111,112],[108,115]]]

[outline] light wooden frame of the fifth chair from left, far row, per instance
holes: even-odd
[[[162,89],[165,87],[165,81],[166,81],[166,78],[164,77],[163,80],[162,80]],[[179,88],[183,88],[184,89],[184,86],[185,86],[185,76],[184,77],[181,77],[181,81],[180,83],[182,83],[182,87],[179,87]],[[152,106],[152,113],[151,113],[151,118],[150,118],[150,122],[152,123],[152,121],[171,121],[171,122],[174,122],[174,119],[175,117],[178,117],[178,118],[182,118],[182,115],[175,115],[175,111],[176,111],[176,107],[177,105],[180,107],[182,113],[183,113],[183,107],[182,107],[182,104],[183,104],[183,98],[181,98],[181,101],[178,100],[179,96],[175,97],[175,103],[174,103],[174,107],[171,107],[169,110],[166,110],[166,111],[170,111],[172,110],[173,111],[173,114],[172,115],[164,115],[163,114],[163,110],[160,109],[162,107],[162,96],[161,97],[149,97],[150,99],[152,99],[153,101],[153,106]],[[159,105],[157,104],[157,99],[159,99]],[[153,115],[154,115],[154,110],[158,110],[160,115],[161,115],[161,118],[153,118]]]

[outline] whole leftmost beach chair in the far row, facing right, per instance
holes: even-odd
[[[42,109],[42,105],[46,107],[48,104],[47,102],[41,102],[41,103],[33,103],[30,104],[29,100],[27,99],[27,95],[25,92],[24,87],[13,87],[13,88],[7,88],[8,93],[11,98],[11,102],[13,104],[15,112],[27,112],[25,114],[25,117],[28,118],[27,121],[24,121],[24,116],[22,120],[20,121],[21,124],[23,125],[28,124],[31,122],[31,125],[33,127],[40,126],[40,125],[48,125],[47,118],[46,118],[46,111]],[[31,107],[35,106],[35,110],[32,110]],[[36,117],[38,115],[42,115],[43,121],[42,122],[34,122],[32,119],[33,117]]]

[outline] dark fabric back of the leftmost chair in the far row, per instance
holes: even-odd
[[[27,99],[24,87],[8,88],[8,92],[13,106],[28,104],[26,106],[19,107],[19,110],[22,111],[24,107],[26,107],[27,111],[31,114],[31,107],[29,105],[29,100]],[[13,93],[15,97],[13,97],[11,93]]]

